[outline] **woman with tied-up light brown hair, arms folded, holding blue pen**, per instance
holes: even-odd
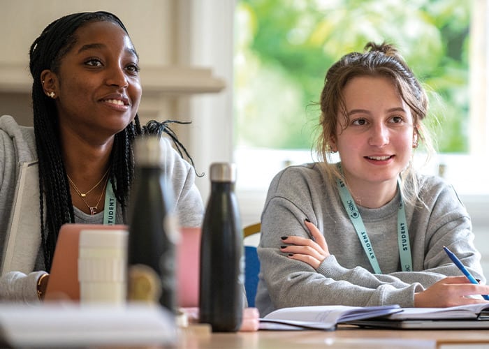
[[[333,64],[319,107],[323,161],[282,170],[265,201],[261,316],[288,306],[486,302],[465,207],[443,179],[413,168],[418,142],[432,149],[428,98],[395,47],[369,43]],[[462,276],[444,246],[481,284]]]

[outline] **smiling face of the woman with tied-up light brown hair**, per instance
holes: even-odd
[[[330,144],[355,188],[395,191],[409,164],[415,140],[411,110],[386,77],[353,77],[343,89],[346,120],[339,115]]]

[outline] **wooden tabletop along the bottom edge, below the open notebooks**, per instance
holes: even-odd
[[[258,331],[212,333],[191,325],[175,348],[489,348],[489,330],[360,329],[340,326],[335,331]]]

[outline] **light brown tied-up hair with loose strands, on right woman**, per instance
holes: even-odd
[[[338,123],[343,124],[341,117],[346,118],[346,107],[343,89],[347,82],[359,76],[387,77],[393,82],[397,93],[411,108],[414,131],[418,141],[422,141],[428,156],[434,152],[430,135],[421,122],[428,112],[428,96],[425,89],[414,76],[409,66],[393,45],[367,43],[365,52],[351,52],[344,55],[331,66],[326,73],[324,87],[321,91],[319,106],[321,132],[316,140],[316,150],[323,161],[323,168],[329,179],[344,180],[337,166],[331,159],[331,140],[336,140]],[[404,200],[416,202],[417,181],[412,160],[401,174]]]

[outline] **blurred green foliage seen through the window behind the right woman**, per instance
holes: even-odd
[[[386,41],[428,89],[438,150],[467,151],[470,10],[460,0],[238,1],[238,147],[311,149],[326,70]]]

